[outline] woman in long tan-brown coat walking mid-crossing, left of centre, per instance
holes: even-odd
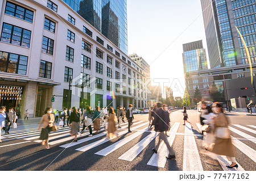
[[[108,116],[108,138],[115,138],[117,137],[117,128],[115,125],[117,124],[117,116],[115,116],[115,112],[113,107],[109,108],[109,116]]]

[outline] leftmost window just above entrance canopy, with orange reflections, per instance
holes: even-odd
[[[0,71],[13,74],[27,74],[27,57],[0,51]]]

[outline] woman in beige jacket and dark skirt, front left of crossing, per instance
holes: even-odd
[[[52,114],[52,108],[47,107],[38,126],[38,129],[40,129],[41,125],[43,124],[39,140],[42,140],[42,145],[46,144],[46,149],[49,149],[49,132],[52,130],[53,122],[54,115]]]

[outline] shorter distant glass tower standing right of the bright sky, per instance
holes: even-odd
[[[202,40],[183,44],[184,73],[207,69],[207,59]]]

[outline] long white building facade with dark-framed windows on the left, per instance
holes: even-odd
[[[1,106],[30,117],[48,106],[143,107],[139,65],[64,1],[45,2],[0,0]]]

